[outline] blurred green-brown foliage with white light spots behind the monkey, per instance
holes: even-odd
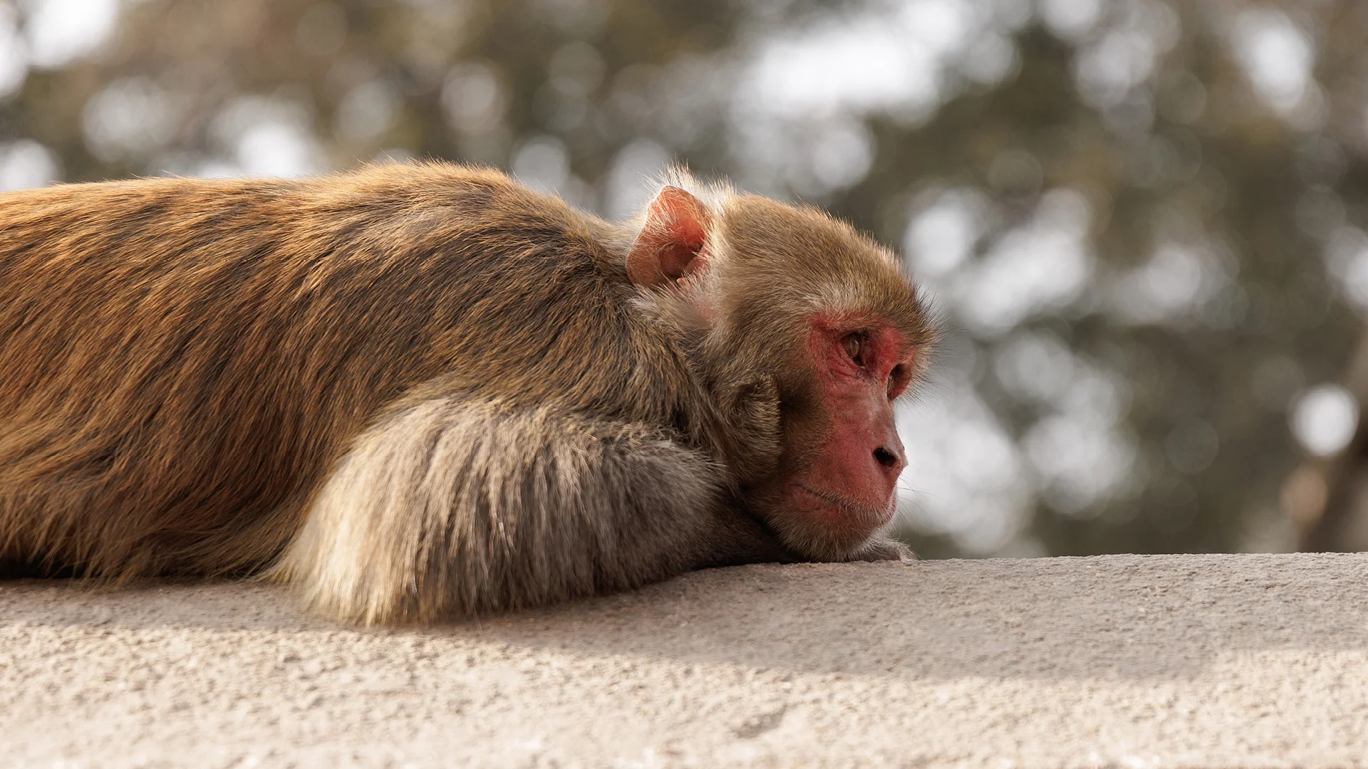
[[[1365,41],[1331,0],[0,0],[0,189],[446,157],[617,218],[681,159],[933,297],[922,556],[1368,549]]]

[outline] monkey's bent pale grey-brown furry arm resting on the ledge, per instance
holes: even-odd
[[[356,441],[274,576],[339,618],[430,621],[782,558],[717,476],[646,426],[434,397]]]

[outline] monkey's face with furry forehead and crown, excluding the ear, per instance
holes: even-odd
[[[774,376],[780,398],[781,454],[746,502],[788,547],[851,556],[893,517],[893,402],[934,330],[897,260],[825,213],[741,198],[718,230],[713,333],[731,343],[714,349],[732,379]]]

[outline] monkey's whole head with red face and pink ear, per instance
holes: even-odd
[[[934,341],[917,287],[815,208],[674,182],[643,215],[628,276],[685,339],[743,502],[803,556],[854,554],[892,519],[907,462],[893,402]]]

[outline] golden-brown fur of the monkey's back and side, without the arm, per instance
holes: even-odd
[[[57,186],[0,196],[0,222],[10,564],[256,572],[382,406],[443,372],[508,404],[699,413],[625,311],[609,226],[492,171]]]

